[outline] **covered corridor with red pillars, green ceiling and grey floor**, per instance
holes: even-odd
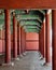
[[[51,33],[56,29],[55,14],[42,9],[0,10],[1,70],[56,69],[55,32]]]

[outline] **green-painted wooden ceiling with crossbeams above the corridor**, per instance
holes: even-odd
[[[4,25],[4,10],[0,10],[0,28]],[[11,30],[13,30],[13,13],[26,32],[40,32],[46,10],[10,10]],[[13,31],[12,31],[13,32]]]

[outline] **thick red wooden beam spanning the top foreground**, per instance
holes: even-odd
[[[56,0],[0,0],[1,9],[56,9]]]

